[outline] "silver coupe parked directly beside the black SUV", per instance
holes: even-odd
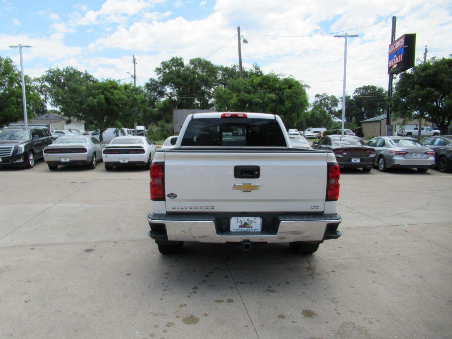
[[[88,165],[94,169],[102,160],[103,149],[104,144],[91,136],[59,137],[44,149],[44,160],[51,171],[58,165]]]

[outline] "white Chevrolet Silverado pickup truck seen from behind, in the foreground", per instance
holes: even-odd
[[[184,241],[289,243],[307,254],[341,235],[334,153],[292,148],[277,115],[189,115],[150,176],[148,235],[162,254]]]

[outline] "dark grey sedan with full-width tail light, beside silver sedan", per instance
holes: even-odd
[[[375,150],[360,137],[329,135],[314,141],[312,148],[333,151],[339,167],[358,167],[364,172],[372,170],[375,160]]]

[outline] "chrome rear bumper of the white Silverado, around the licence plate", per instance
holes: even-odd
[[[215,217],[210,215],[152,215],[147,221],[148,235],[154,240],[196,241],[206,243],[318,241],[337,239],[337,228],[342,221],[339,214],[281,215],[278,216],[276,234],[219,234]]]

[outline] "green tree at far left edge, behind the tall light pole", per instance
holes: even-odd
[[[25,75],[27,117],[43,113],[42,100],[30,78]],[[10,58],[0,56],[0,126],[24,119],[20,72]]]

